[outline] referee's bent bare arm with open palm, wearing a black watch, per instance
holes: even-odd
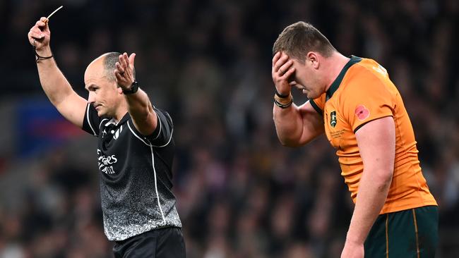
[[[135,78],[133,75],[134,59],[136,54],[124,53],[119,55],[119,61],[114,70],[117,84],[123,90],[130,90]],[[148,99],[148,95],[140,88],[136,93],[124,94],[128,104],[128,111],[136,129],[142,135],[151,135],[157,126],[157,115]]]

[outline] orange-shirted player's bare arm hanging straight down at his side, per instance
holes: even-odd
[[[363,252],[366,236],[386,201],[395,159],[395,124],[392,116],[364,124],[355,135],[364,171],[342,257],[353,257],[348,254],[355,250]]]

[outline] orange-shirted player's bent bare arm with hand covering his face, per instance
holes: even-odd
[[[288,78],[294,73],[292,61],[288,56],[276,53],[273,57],[273,82],[276,91],[291,96],[292,86]],[[273,119],[278,138],[282,145],[297,147],[305,145],[323,133],[323,119],[308,101],[302,106],[292,104],[286,108],[274,104]]]

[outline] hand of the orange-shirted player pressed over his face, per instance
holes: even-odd
[[[279,51],[274,55],[271,75],[273,75],[275,88],[280,94],[287,95],[290,93],[292,80],[289,81],[289,78],[294,71],[293,61],[287,54]]]

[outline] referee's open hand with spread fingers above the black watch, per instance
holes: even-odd
[[[123,90],[129,90],[129,87],[131,87],[132,83],[136,80],[133,74],[135,58],[135,53],[128,56],[128,54],[124,52],[124,54],[119,55],[119,60],[115,63],[115,78],[117,84]]]

